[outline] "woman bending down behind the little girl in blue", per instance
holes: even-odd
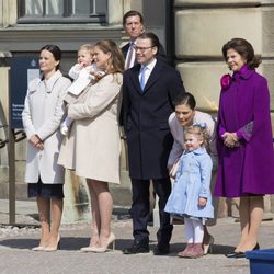
[[[210,136],[206,150],[209,153],[213,161],[213,174],[210,183],[213,187],[217,171],[215,119],[209,114],[196,110],[196,100],[189,92],[180,94],[173,103],[175,105],[175,112],[173,112],[169,117],[169,126],[170,126],[170,132],[174,138],[174,141],[169,156],[168,168],[171,170],[173,164],[184,152],[184,128],[193,124],[206,124],[207,130]],[[214,204],[216,212],[217,209],[216,199],[214,201]],[[216,222],[216,217],[214,221]],[[214,238],[208,233],[207,228],[205,226],[205,235],[203,242],[205,254],[209,250],[212,250],[213,243],[214,243]]]

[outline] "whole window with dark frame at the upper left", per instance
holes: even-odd
[[[19,24],[106,23],[107,0],[18,0]]]

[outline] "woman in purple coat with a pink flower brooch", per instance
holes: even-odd
[[[227,256],[244,258],[247,250],[259,249],[263,195],[274,193],[270,92],[255,71],[260,60],[249,42],[233,38],[222,46],[222,55],[232,75],[221,78],[215,195],[240,197],[241,238]]]

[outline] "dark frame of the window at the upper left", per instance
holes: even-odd
[[[96,23],[105,25],[107,23],[107,1],[105,7],[105,13],[90,13],[87,14],[72,14],[72,0],[64,1],[64,14],[45,16],[45,12],[42,16],[25,15],[25,0],[18,0],[18,24],[75,24],[75,23]],[[92,0],[90,0],[92,1]],[[100,1],[100,0],[96,0]],[[45,0],[43,0],[43,10],[46,10]]]

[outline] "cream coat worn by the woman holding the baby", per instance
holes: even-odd
[[[107,75],[87,87],[69,105],[72,125],[58,163],[83,178],[119,183],[118,105],[122,73]]]

